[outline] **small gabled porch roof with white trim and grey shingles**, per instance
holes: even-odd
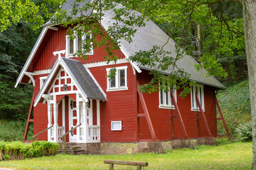
[[[53,69],[51,69],[46,82],[41,88],[41,91],[39,91],[38,96],[36,96],[34,106],[41,101],[43,94],[46,93],[48,86],[50,86],[50,83],[53,82],[53,79],[55,78],[58,70],[60,70],[60,67],[63,67],[65,72],[67,72],[70,76],[71,80],[75,82],[75,86],[85,101],[88,101],[88,99],[100,101],[107,100],[106,94],[101,89],[100,85],[97,84],[97,81],[92,76],[89,69],[85,68],[80,61],[58,57],[58,60],[55,62]]]

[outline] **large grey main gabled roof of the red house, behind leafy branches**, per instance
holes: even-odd
[[[86,0],[87,2],[88,0]],[[71,4],[74,4],[75,0],[68,0],[65,4],[63,4],[63,9],[67,10],[68,13],[72,11],[72,8],[68,8]],[[85,2],[81,2],[80,6],[85,4]],[[117,5],[116,8],[122,8],[121,5]],[[141,15],[140,13],[136,11],[132,11],[136,15]],[[104,16],[102,17],[102,27],[107,30],[110,26],[113,25],[114,20],[112,19],[114,17],[114,11],[111,9],[109,11],[104,11]],[[141,51],[147,51],[151,50],[154,45],[156,46],[164,46],[164,50],[171,52],[172,57],[176,57],[176,43],[174,40],[171,40],[166,33],[164,33],[163,30],[161,30],[156,24],[152,21],[145,21],[146,26],[141,27],[141,28],[136,28],[137,32],[134,34],[134,37],[132,38],[132,42],[129,43],[126,40],[120,40],[120,50],[124,53],[124,55],[127,57],[129,60],[129,57],[134,55],[136,52]],[[122,23],[119,23],[122,24]],[[46,27],[50,25],[50,22],[46,23]],[[167,43],[166,43],[167,42]],[[40,41],[37,43],[41,43]],[[36,44],[37,45],[37,44]],[[35,46],[36,46],[35,45]],[[33,53],[33,51],[31,52]],[[34,55],[30,55],[28,57],[28,60],[26,64],[24,65],[21,74],[19,75],[16,85],[21,82],[21,79],[23,75],[26,72],[26,68],[28,68],[29,61],[31,61],[31,58],[33,58]],[[142,72],[141,69],[154,69],[151,67],[147,66],[142,66],[139,65],[136,62],[129,62],[132,64],[132,66],[137,70],[137,72]],[[214,77],[206,77],[206,69],[201,69],[199,72],[196,71],[196,68],[194,67],[195,64],[198,64],[196,60],[193,59],[193,57],[189,55],[183,55],[181,60],[178,60],[177,66],[180,69],[183,69],[184,72],[187,72],[188,74],[191,74],[190,79],[193,81],[197,81],[198,83],[201,84],[206,84],[209,86],[214,86],[218,89],[225,89],[225,86],[221,84],[217,79]],[[170,74],[171,73],[171,67],[169,70],[166,70],[164,73],[165,74]]]

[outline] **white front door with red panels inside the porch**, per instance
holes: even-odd
[[[78,113],[76,108],[76,101],[74,101],[72,98],[68,98],[68,117],[69,117],[69,130],[72,128],[75,128],[75,126],[78,123]],[[70,142],[76,142],[77,141],[77,129],[73,130],[69,134]]]

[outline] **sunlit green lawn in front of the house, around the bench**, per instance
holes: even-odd
[[[0,162],[0,167],[12,169],[108,169],[105,159],[149,162],[143,169],[251,169],[252,142],[237,142],[197,149],[173,149],[166,154],[133,155],[57,155],[18,161]],[[114,166],[114,169],[136,169],[134,166]]]

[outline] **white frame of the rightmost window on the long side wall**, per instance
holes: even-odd
[[[198,100],[201,101],[201,107],[203,108],[203,111],[205,111],[203,84],[195,84],[191,86],[191,111],[200,111],[199,106],[197,106],[197,103],[196,103],[196,88],[198,89],[197,91]],[[200,89],[201,89],[201,93],[200,93]]]

